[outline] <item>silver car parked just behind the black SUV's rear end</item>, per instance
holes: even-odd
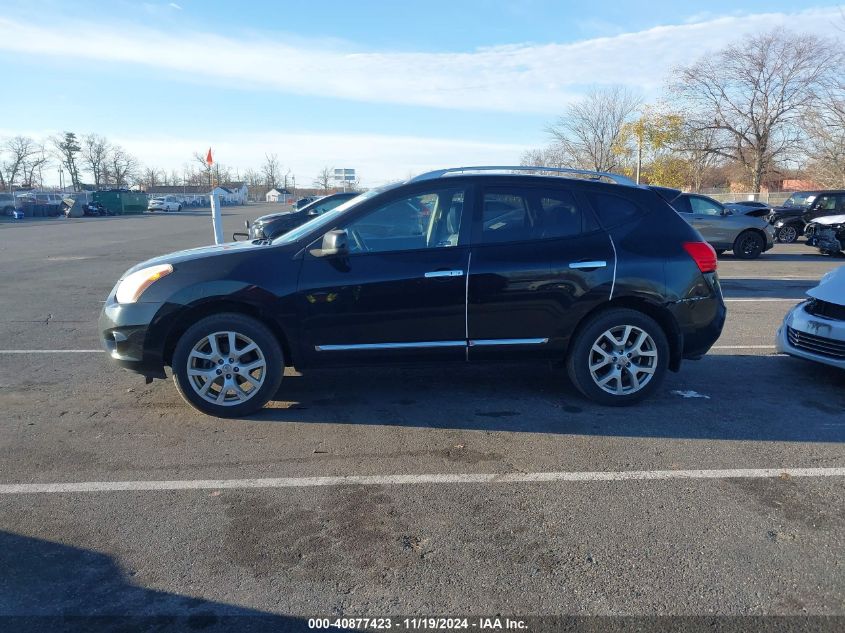
[[[775,245],[775,229],[765,218],[734,213],[718,200],[668,187],[651,187],[721,255],[757,259]]]

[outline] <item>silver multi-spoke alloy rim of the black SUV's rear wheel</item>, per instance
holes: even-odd
[[[593,382],[614,396],[643,389],[654,377],[657,362],[654,339],[635,325],[618,325],[602,332],[587,360]]]

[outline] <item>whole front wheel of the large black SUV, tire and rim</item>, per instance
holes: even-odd
[[[254,413],[276,393],[284,373],[281,346],[251,317],[206,317],[180,337],[173,352],[173,380],[194,408],[221,418]]]

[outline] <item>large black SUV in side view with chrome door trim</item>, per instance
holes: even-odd
[[[146,261],[109,294],[103,344],[223,417],[262,407],[285,366],[558,360],[622,405],[705,354],[726,310],[701,235],[622,176],[525,170],[431,172],[272,241]]]

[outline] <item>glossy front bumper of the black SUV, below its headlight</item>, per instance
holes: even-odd
[[[164,341],[150,340],[150,324],[161,310],[158,303],[121,304],[113,297],[100,313],[100,342],[119,366],[150,378],[164,378]]]

